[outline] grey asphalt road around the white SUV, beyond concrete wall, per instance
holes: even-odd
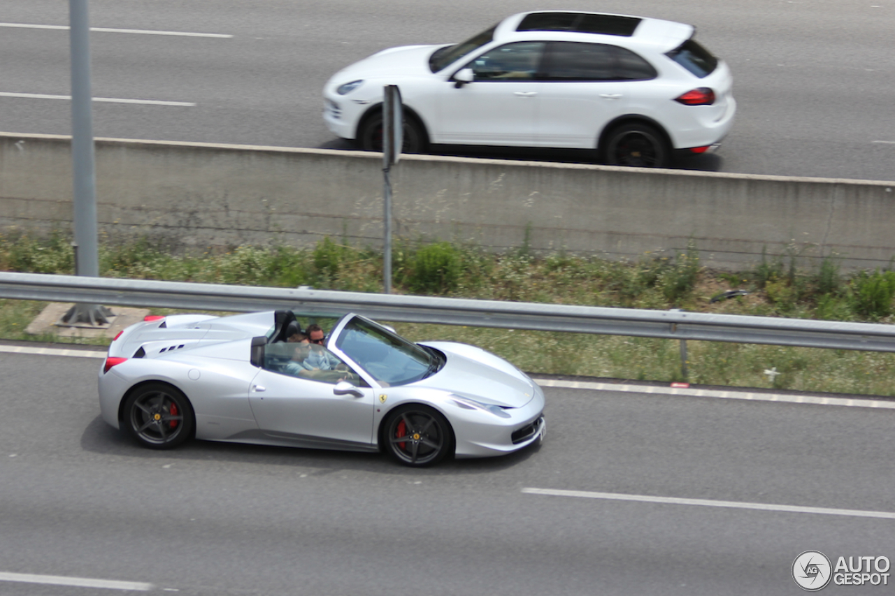
[[[459,41],[542,0],[90,0],[97,136],[347,148],[320,118],[320,89],[383,47]],[[569,9],[592,10],[587,0]],[[727,60],[739,103],[720,153],[678,167],[892,180],[895,0],[602,0],[600,10],[694,23]],[[0,0],[0,22],[64,26],[67,3]],[[0,130],[68,134],[65,30],[0,26]],[[179,104],[188,104],[186,106]],[[581,159],[505,150],[466,155]]]

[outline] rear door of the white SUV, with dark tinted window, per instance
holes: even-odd
[[[593,149],[607,123],[636,111],[657,76],[651,64],[626,48],[565,41],[550,42],[543,71],[541,145],[578,149]]]

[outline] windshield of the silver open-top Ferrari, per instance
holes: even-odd
[[[439,359],[419,345],[360,317],[345,325],[336,347],[374,379],[389,386],[424,379],[439,367]]]

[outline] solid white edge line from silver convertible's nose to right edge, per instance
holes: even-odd
[[[592,391],[619,391],[621,393],[645,393],[660,396],[714,397],[716,399],[746,399],[755,402],[780,402],[781,404],[847,405],[858,408],[882,408],[895,410],[895,401],[862,399],[855,397],[788,396],[775,393],[757,393],[748,390],[720,391],[694,387],[659,387],[652,385],[616,385],[591,381],[565,381],[556,379],[532,379],[541,387],[563,389],[588,389]]]

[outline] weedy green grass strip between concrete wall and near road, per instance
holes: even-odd
[[[71,244],[62,234],[0,235],[0,270],[71,274],[72,267]],[[398,294],[884,323],[891,322],[895,296],[895,273],[890,271],[842,276],[832,257],[811,271],[797,268],[794,257],[786,263],[766,256],[750,270],[712,271],[700,265],[695,246],[622,263],[562,252],[536,256],[525,247],[496,255],[467,245],[405,241],[393,250],[392,268]],[[312,249],[243,246],[196,255],[176,255],[145,241],[101,245],[100,271],[104,277],[356,292],[379,292],[382,285],[379,252],[329,238]],[[734,289],[747,294],[712,302]],[[26,334],[24,328],[44,305],[0,300],[0,337],[105,343]],[[675,340],[405,323],[394,327],[417,341],[479,345],[533,373],[684,380]],[[688,342],[687,348],[686,380],[695,384],[895,396],[895,354],[718,342]]]

